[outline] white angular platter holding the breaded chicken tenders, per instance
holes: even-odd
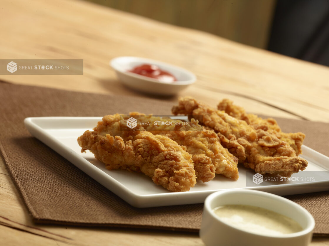
[[[254,174],[254,171],[239,165],[240,178],[237,181],[217,174],[210,182],[198,181],[189,192],[169,192],[162,186],[154,184],[152,179],[144,174],[123,170],[110,171],[89,151],[81,153],[77,138],[86,130],[95,127],[100,120],[101,117],[30,117],[26,118],[24,123],[33,136],[135,207],[202,203],[208,195],[223,189],[254,189],[277,195],[329,190],[329,157],[302,146],[303,155],[301,157],[308,161],[306,170],[324,171],[316,172],[321,173],[321,181],[299,183],[285,181],[280,184],[267,183],[266,186],[246,187],[246,175],[248,172]]]

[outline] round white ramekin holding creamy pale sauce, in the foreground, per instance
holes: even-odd
[[[286,215],[298,222],[303,230],[280,236],[240,230],[222,221],[213,211],[230,204],[256,206]],[[255,190],[219,191],[205,200],[200,237],[207,246],[306,246],[312,240],[314,226],[314,218],[306,209],[284,197]]]

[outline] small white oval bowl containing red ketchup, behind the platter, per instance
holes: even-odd
[[[157,65],[161,70],[174,75],[177,81],[165,83],[137,73],[128,72],[128,70],[132,70],[134,67],[142,64]],[[188,70],[147,58],[120,56],[112,59],[110,66],[115,70],[123,84],[140,92],[173,95],[196,81],[196,76]]]

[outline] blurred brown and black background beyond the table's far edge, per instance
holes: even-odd
[[[329,66],[329,0],[89,0]]]

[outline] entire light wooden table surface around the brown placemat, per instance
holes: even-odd
[[[109,67],[116,56],[142,56],[197,75],[179,95],[213,106],[227,97],[249,112],[329,122],[324,66],[77,0],[2,0],[0,20],[1,59],[84,59],[84,75],[0,75],[2,80],[146,97],[122,86]],[[35,225],[2,160],[0,195],[1,245],[203,245],[196,234]],[[329,238],[314,237],[312,245],[329,245]]]

